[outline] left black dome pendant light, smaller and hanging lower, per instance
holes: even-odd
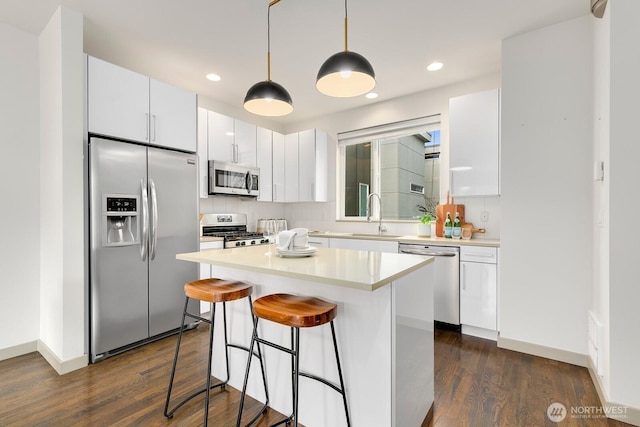
[[[293,101],[289,92],[271,80],[271,6],[280,0],[273,0],[267,9],[267,80],[251,86],[244,97],[244,109],[259,116],[286,116],[293,111]]]

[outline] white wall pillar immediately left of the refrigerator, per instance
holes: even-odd
[[[87,361],[82,19],[59,7],[39,38],[40,340],[59,372]]]

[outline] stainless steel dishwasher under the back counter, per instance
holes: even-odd
[[[433,309],[437,326],[460,330],[460,248],[400,243],[400,253],[428,255],[434,260]]]

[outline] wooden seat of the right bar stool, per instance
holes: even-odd
[[[290,294],[266,295],[253,303],[257,317],[294,328],[324,325],[335,319],[336,311],[336,304]]]

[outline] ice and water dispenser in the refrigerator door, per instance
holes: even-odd
[[[103,195],[103,246],[126,246],[140,243],[139,207],[140,200],[136,195]]]

